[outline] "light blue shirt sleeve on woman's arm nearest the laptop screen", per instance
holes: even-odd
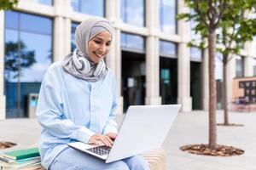
[[[116,101],[116,81],[115,78],[113,78],[113,104],[110,111],[110,114],[108,116],[108,121],[103,129],[103,134],[106,133],[118,133],[117,127],[118,124],[115,122],[115,110],[117,107],[117,101]]]

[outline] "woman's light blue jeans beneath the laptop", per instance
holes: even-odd
[[[78,150],[67,148],[55,157],[49,170],[149,170],[148,162],[142,156],[132,156],[120,161],[105,163],[104,161],[84,154]]]

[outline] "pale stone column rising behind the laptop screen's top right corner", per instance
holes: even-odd
[[[189,13],[183,0],[177,1],[178,13]],[[178,34],[182,42],[178,44],[177,54],[177,103],[182,104],[182,111],[192,110],[192,99],[190,97],[190,50],[187,46],[190,38],[189,22],[178,20]]]

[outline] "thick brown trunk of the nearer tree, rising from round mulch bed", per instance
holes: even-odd
[[[215,81],[215,31],[210,30],[209,45],[209,148],[216,148],[216,81]]]

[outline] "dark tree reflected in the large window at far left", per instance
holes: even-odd
[[[18,46],[20,43],[20,51]],[[20,69],[31,66],[36,62],[35,51],[26,50],[24,42],[6,42],[5,43],[5,79],[9,82],[20,74]]]

